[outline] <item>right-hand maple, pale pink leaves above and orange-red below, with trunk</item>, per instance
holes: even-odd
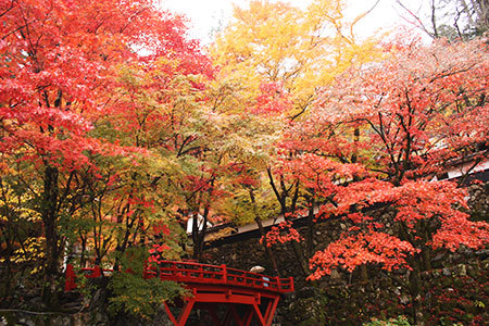
[[[486,47],[388,43],[384,61],[338,76],[311,118],[293,126],[284,146],[301,153],[286,158],[286,171],[315,197],[317,218],[351,225],[314,254],[310,279],[367,264],[399,271],[391,276],[412,271],[400,284],[422,324],[419,273],[431,269],[434,252],[487,244],[487,223],[464,212],[465,190],[431,181],[467,152],[464,174],[487,159]]]

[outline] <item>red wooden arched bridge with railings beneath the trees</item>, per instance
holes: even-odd
[[[100,277],[100,267],[82,269],[86,277]],[[293,291],[293,279],[269,277],[262,274],[192,262],[164,261],[159,267],[148,267],[145,278],[159,277],[185,284],[191,296],[171,305],[164,302],[166,313],[175,326],[186,325],[192,309],[205,310],[214,325],[249,326],[255,319],[269,326],[280,293]],[[76,288],[73,266],[66,268],[65,289]],[[202,324],[209,325],[209,324]]]

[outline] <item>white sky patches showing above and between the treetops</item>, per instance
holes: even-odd
[[[238,7],[248,7],[248,0],[160,0],[161,7],[172,12],[183,13],[189,20],[190,34],[210,42],[211,33],[220,24],[226,25],[233,15],[233,3]],[[305,9],[313,0],[284,0],[292,5]],[[369,9],[376,0],[349,0],[354,13],[361,13]],[[362,36],[374,34],[378,28],[389,28],[402,23],[398,11],[393,8],[394,0],[380,0],[369,16],[365,17],[362,25],[358,25],[356,33]]]

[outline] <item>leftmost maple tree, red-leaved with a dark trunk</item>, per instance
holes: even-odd
[[[91,208],[96,222],[103,223],[93,201],[108,193],[114,199],[114,189],[123,198],[114,203],[121,225],[139,225],[141,211],[152,205],[135,195],[145,186],[136,183],[141,174],[130,166],[150,154],[150,140],[161,140],[141,139],[148,129],[140,123],[148,118],[148,127],[158,127],[166,116],[154,108],[168,96],[142,108],[141,91],[131,92],[135,85],[121,77],[124,67],[146,71],[146,78],[156,80],[143,85],[147,92],[156,87],[170,92],[178,75],[210,76],[211,66],[198,42],[187,40],[183,17],[158,10],[152,1],[2,1],[0,14],[1,164],[23,171],[2,168],[2,184],[30,193],[35,202],[45,242],[46,300],[55,304],[55,296],[49,297],[55,292],[63,248],[76,231],[70,220]],[[191,83],[201,87],[197,79]],[[135,139],[118,139],[117,129],[134,133]],[[134,212],[139,214],[130,217]],[[134,235],[135,229],[126,229],[117,246],[127,246]],[[105,244],[97,249],[99,259]]]

